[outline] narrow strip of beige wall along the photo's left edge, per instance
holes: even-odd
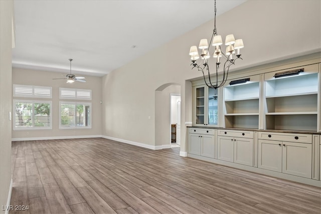
[[[0,1],[0,206],[7,205],[11,182],[11,67],[13,1]],[[5,213],[0,209],[1,213]]]

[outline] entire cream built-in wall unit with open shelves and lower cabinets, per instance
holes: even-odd
[[[193,81],[188,156],[320,186],[319,56],[233,72],[218,90]]]

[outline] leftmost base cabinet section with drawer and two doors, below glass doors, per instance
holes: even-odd
[[[214,129],[189,129],[190,154],[216,158],[216,138]]]

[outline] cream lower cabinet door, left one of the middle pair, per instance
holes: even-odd
[[[217,138],[217,159],[233,162],[234,158],[234,138],[219,136]]]

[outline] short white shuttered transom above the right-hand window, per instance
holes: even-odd
[[[60,99],[91,100],[90,89],[59,88]]]

